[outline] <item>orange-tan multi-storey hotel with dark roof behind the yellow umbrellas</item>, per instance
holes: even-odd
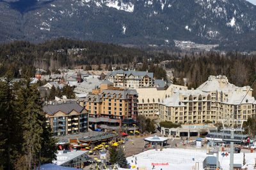
[[[85,106],[90,117],[113,119],[121,125],[125,118],[136,120],[137,98],[136,90],[116,88],[110,81],[104,81],[99,88],[77,102]]]

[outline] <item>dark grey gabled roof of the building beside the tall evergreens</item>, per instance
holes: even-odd
[[[68,115],[73,110],[77,111],[78,113],[81,113],[84,110],[84,108],[79,104],[77,104],[76,102],[51,104],[51,105],[45,105],[43,107],[43,111],[51,116],[53,116],[58,111],[62,111],[63,113]]]

